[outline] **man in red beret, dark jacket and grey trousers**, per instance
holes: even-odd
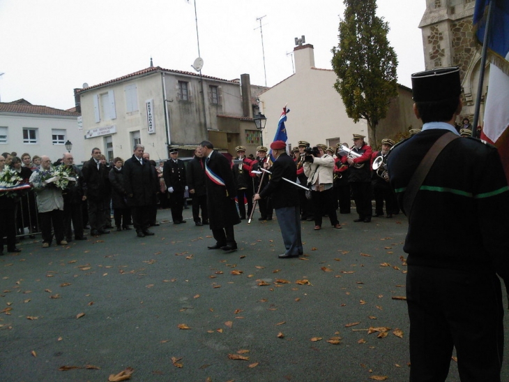
[[[282,179],[296,182],[297,166],[287,154],[287,144],[282,140],[272,142],[271,149],[276,159],[271,168],[271,180],[259,194],[254,195],[254,200],[271,196],[275,216],[278,216],[278,223],[286,248],[284,254],[278,257],[298,257],[303,254],[298,189]]]

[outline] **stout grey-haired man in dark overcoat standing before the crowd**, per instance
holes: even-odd
[[[149,206],[153,203],[153,195],[159,187],[159,180],[155,177],[151,164],[143,159],[144,150],[144,146],[135,145],[134,154],[123,165],[124,189],[138,237],[154,235],[149,230]]]

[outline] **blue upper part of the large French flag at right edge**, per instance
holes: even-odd
[[[487,10],[492,2],[492,14],[487,28]],[[492,62],[509,74],[509,0],[476,0],[473,12],[473,26],[476,36],[483,44],[486,30],[488,30],[487,48],[492,56]]]

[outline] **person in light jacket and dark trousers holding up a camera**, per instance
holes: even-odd
[[[321,229],[324,214],[328,215],[328,219],[334,228],[341,228],[334,205],[334,158],[326,154],[325,150],[325,145],[305,149],[303,167],[307,177],[307,185],[311,186],[311,200],[314,206],[314,230]]]

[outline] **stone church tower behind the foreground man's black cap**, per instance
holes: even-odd
[[[475,0],[425,0],[426,10],[419,28],[423,32],[426,70],[444,66],[459,66],[464,89],[461,119],[473,122],[477,96],[480,50],[473,34],[472,17]],[[483,121],[484,99],[489,78],[485,71],[480,121]],[[458,121],[459,122],[459,121]]]

